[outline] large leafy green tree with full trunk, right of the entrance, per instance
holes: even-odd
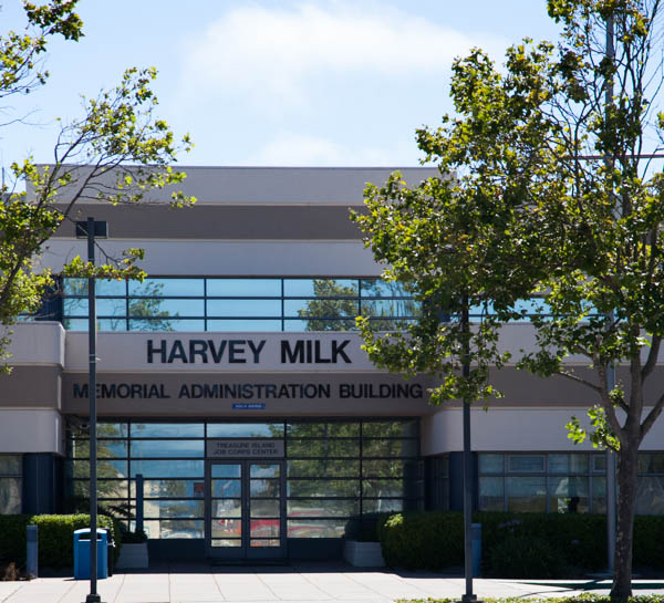
[[[354,219],[386,278],[428,308],[403,334],[360,321],[383,366],[440,377],[434,403],[488,397],[488,368],[507,358],[501,324],[533,303],[537,351],[518,367],[562,375],[596,396],[587,433],[615,450],[618,539],[612,599],[631,594],[637,451],[664,406],[646,394],[664,335],[664,131],[660,0],[549,0],[560,41],[507,51],[499,71],[479,50],[453,67],[456,114],[417,132],[440,175],[408,189],[393,175],[366,189]],[[647,150],[650,154],[644,158]],[[454,177],[452,177],[454,175]],[[487,313],[464,333],[467,304]],[[439,311],[449,313],[439,323]],[[582,356],[589,371],[566,358]],[[467,380],[463,360],[473,361]],[[622,367],[615,384],[613,366]]]

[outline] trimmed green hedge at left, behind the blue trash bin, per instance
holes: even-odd
[[[39,564],[62,568],[74,564],[74,531],[90,527],[90,516],[41,514],[0,516],[0,562],[25,564],[25,528],[38,526]],[[120,523],[106,516],[97,517],[97,526],[110,530],[115,542],[115,561],[120,555]]]

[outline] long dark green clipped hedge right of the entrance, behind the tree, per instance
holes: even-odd
[[[476,512],[473,521],[481,523],[483,566],[489,571],[494,549],[513,537],[548,543],[574,568],[596,571],[606,564],[605,516]],[[377,532],[388,565],[442,570],[464,564],[464,518],[459,512],[396,513],[383,517]],[[635,519],[634,564],[664,568],[663,517]]]

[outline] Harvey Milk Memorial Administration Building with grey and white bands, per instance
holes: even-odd
[[[460,406],[434,408],[426,378],[377,371],[353,331],[360,312],[383,329],[417,313],[347,219],[390,170],[186,171],[194,208],[77,209],[107,221],[104,252],[144,248],[149,274],[97,283],[101,508],[133,523],[143,476],[151,554],[226,559],[340,557],[343,537],[378,512],[460,509]],[[402,173],[414,184],[434,170]],[[85,241],[68,222],[42,261],[58,272],[75,254]],[[86,508],[86,294],[85,280],[64,279],[40,320],[14,329],[2,512]],[[525,322],[502,345],[530,342]],[[471,410],[475,505],[604,512],[604,454],[564,429],[589,394],[511,367],[492,378],[506,397]],[[660,422],[643,446],[639,512],[664,512],[663,438]]]

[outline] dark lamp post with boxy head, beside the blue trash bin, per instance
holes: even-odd
[[[107,238],[105,221],[76,222],[76,237],[87,239],[87,261],[94,266],[94,239]],[[96,497],[96,295],[94,274],[87,279],[87,341],[90,357],[90,594],[85,603],[101,603],[97,593],[97,497]]]

